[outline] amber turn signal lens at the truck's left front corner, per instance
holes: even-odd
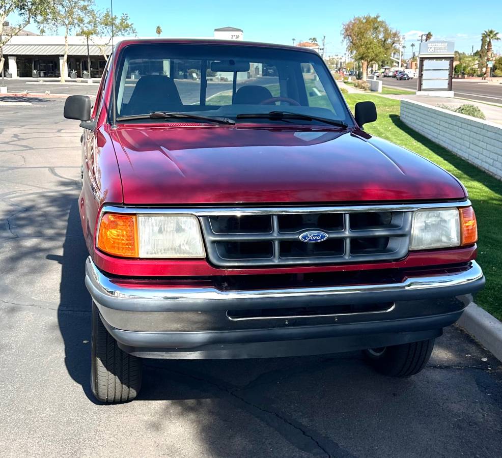
[[[138,257],[136,216],[114,213],[103,215],[97,247],[113,256]]]

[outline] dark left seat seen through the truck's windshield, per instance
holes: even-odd
[[[176,84],[169,76],[145,75],[138,79],[126,108],[126,115],[183,109]]]

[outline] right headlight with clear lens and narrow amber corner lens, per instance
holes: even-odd
[[[472,207],[419,210],[413,214],[410,250],[470,245],[477,240]]]

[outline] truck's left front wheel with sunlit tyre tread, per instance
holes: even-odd
[[[91,390],[103,403],[124,403],[141,388],[141,359],[122,351],[111,337],[92,303]]]

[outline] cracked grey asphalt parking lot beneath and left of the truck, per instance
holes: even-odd
[[[0,106],[2,456],[479,456],[502,450],[502,367],[455,327],[410,379],[359,353],[146,362],[140,396],[90,393],[81,130],[63,99]]]

